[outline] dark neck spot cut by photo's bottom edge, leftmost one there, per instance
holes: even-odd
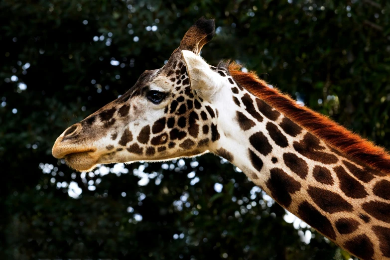
[[[374,246],[366,235],[356,236],[344,243],[344,248],[360,259],[372,260]]]

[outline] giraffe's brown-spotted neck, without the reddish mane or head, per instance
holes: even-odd
[[[225,101],[217,102],[224,134],[210,150],[353,255],[390,259],[389,175],[332,148],[230,83],[229,93],[221,94]]]

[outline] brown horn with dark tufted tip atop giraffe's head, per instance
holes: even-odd
[[[199,18],[185,33],[180,42],[180,50],[189,50],[199,55],[203,45],[215,35],[214,19]]]

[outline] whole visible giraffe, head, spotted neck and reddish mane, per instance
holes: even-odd
[[[53,156],[89,171],[212,152],[352,255],[390,260],[390,155],[234,62],[207,64],[214,34],[214,20],[196,21],[162,68],[65,130]]]

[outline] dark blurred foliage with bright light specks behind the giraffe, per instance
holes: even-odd
[[[238,60],[389,147],[389,13],[377,0],[0,1],[0,258],[349,260],[212,154],[80,174],[51,147],[162,67],[202,15],[216,19],[210,64]]]

